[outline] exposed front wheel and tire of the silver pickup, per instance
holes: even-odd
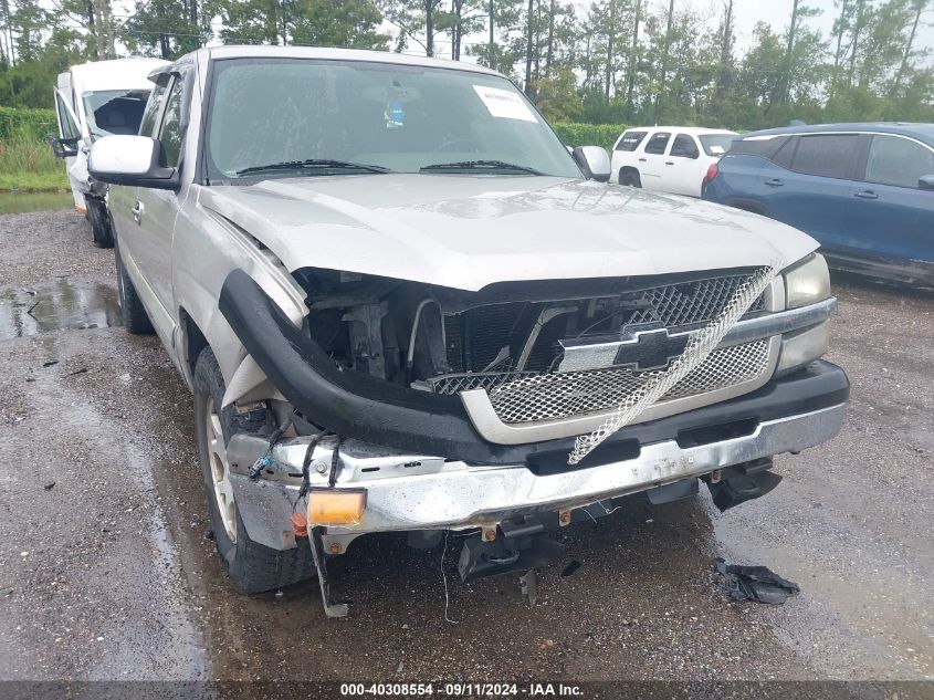
[[[206,347],[195,365],[195,436],[221,564],[231,583],[243,593],[274,591],[312,578],[316,570],[307,540],[298,540],[298,546],[292,550],[273,550],[254,542],[240,518],[233,490],[218,485],[222,481],[218,477],[228,469],[225,447],[230,438],[238,432],[259,432],[273,422],[269,410],[238,414],[230,406],[217,410],[223,393],[218,361],[211,348]],[[221,509],[225,510],[225,516]]]

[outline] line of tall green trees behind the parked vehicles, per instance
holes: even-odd
[[[553,121],[739,129],[934,122],[934,0],[784,0],[737,49],[738,3],[684,0],[0,0],[0,105],[51,106],[69,65],[171,59],[208,42],[336,45],[471,60],[505,73]],[[744,11],[754,11],[743,6]]]

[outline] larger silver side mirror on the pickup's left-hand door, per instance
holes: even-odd
[[[87,171],[95,180],[111,185],[177,190],[178,170],[164,163],[162,145],[157,139],[112,135],[94,142]]]

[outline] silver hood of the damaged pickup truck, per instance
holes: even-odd
[[[788,265],[817,249],[764,217],[534,176],[348,175],[200,188],[201,206],[290,270],[478,291],[494,282]]]

